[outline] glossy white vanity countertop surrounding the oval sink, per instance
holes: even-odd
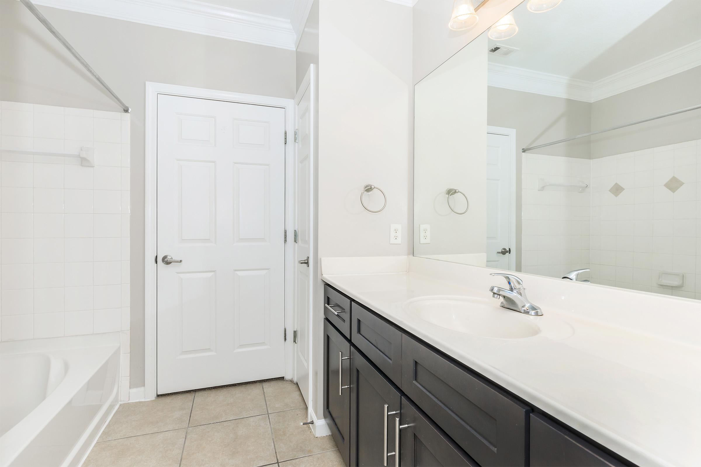
[[[701,465],[701,346],[627,330],[603,322],[600,313],[587,319],[585,313],[556,309],[535,300],[530,288],[533,302],[550,306],[538,317],[513,312],[515,319],[564,321],[571,333],[524,339],[466,335],[408,314],[404,303],[432,295],[490,298],[484,287],[451,284],[425,271],[322,279],[629,461]],[[490,280],[502,285],[501,278]],[[527,279],[524,283],[529,285]],[[597,291],[598,286],[588,289],[590,295]],[[503,312],[498,303],[494,300],[495,311]],[[672,313],[667,309],[658,316],[674,319]]]

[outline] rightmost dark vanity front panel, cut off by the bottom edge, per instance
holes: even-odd
[[[531,414],[531,466],[623,466],[605,452],[541,414]]]

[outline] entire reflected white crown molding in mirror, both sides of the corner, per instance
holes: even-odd
[[[584,81],[490,62],[488,83],[496,88],[596,102],[701,66],[701,41],[672,50],[599,81]]]

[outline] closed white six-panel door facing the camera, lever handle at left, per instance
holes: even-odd
[[[284,132],[285,109],[158,95],[159,394],[285,375]]]

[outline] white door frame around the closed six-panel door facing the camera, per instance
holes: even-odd
[[[294,99],[257,96],[238,92],[191,88],[165,83],[146,83],[146,172],[145,172],[145,218],[144,218],[144,398],[156,398],[156,130],[158,128],[158,95],[168,94],[182,97],[197,97],[238,104],[256,104],[285,109],[285,131],[288,137],[294,134]],[[291,141],[285,144],[285,229],[292,232],[292,200],[294,199],[294,164]],[[283,235],[283,232],[280,232]],[[285,243],[285,328],[292,329],[292,248]],[[282,337],[282,336],[280,336]],[[285,342],[285,379],[294,374],[292,339]]]

